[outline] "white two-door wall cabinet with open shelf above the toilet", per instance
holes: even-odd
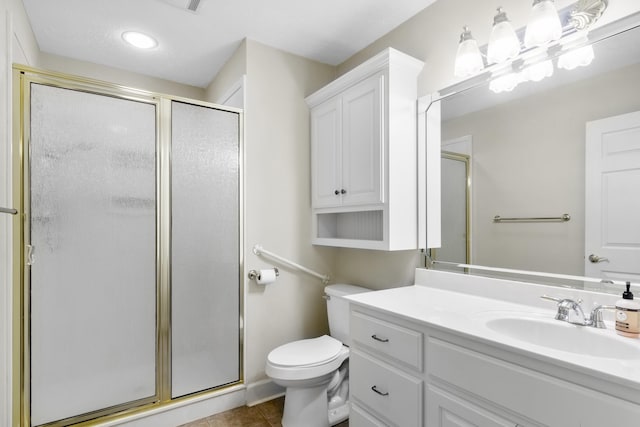
[[[386,49],[306,98],[312,243],[417,248],[417,76]]]

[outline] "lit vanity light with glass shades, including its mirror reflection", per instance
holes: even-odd
[[[521,82],[551,76],[556,55],[558,68],[572,70],[589,65],[594,54],[588,44],[588,30],[602,16],[608,3],[609,0],[578,0],[558,13],[553,0],[533,0],[531,19],[521,32],[514,31],[505,11],[499,7],[487,46],[478,48],[469,28],[463,27],[454,74],[463,78],[479,74],[484,69],[482,52],[486,52],[486,71],[492,79],[490,89],[505,92]],[[522,33],[521,44],[517,34]]]

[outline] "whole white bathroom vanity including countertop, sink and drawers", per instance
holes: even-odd
[[[615,295],[418,269],[416,285],[349,297],[359,426],[640,424],[640,340],[555,320],[542,295]]]

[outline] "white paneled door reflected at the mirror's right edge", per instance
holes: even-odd
[[[586,137],[585,276],[639,283],[640,111],[588,122]]]

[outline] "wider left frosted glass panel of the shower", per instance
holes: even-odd
[[[156,395],[154,104],[31,84],[31,420]]]

